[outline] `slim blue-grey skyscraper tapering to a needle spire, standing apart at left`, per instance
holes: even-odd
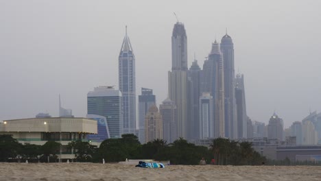
[[[119,90],[123,95],[123,133],[136,131],[135,56],[126,34],[119,53]]]

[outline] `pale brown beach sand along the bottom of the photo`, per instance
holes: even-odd
[[[321,180],[321,167],[0,162],[0,180]]]

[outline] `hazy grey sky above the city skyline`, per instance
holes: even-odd
[[[116,85],[125,25],[136,56],[136,95],[167,97],[173,12],[185,24],[189,66],[215,37],[235,45],[252,120],[274,110],[288,127],[321,111],[321,1],[0,1],[0,120],[86,115],[86,94]]]

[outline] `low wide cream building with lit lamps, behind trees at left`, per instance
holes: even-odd
[[[44,145],[56,141],[62,146],[57,154],[59,160],[75,158],[71,141],[88,141],[88,134],[97,134],[97,121],[78,117],[51,117],[13,119],[0,123],[0,134],[11,134],[19,143]]]

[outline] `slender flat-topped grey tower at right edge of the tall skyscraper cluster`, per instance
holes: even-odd
[[[235,98],[237,106],[237,122],[231,122],[230,128],[233,130],[231,133],[236,136],[234,136],[234,138],[247,138],[248,115],[246,114],[246,98],[243,74],[237,74],[235,78]]]

